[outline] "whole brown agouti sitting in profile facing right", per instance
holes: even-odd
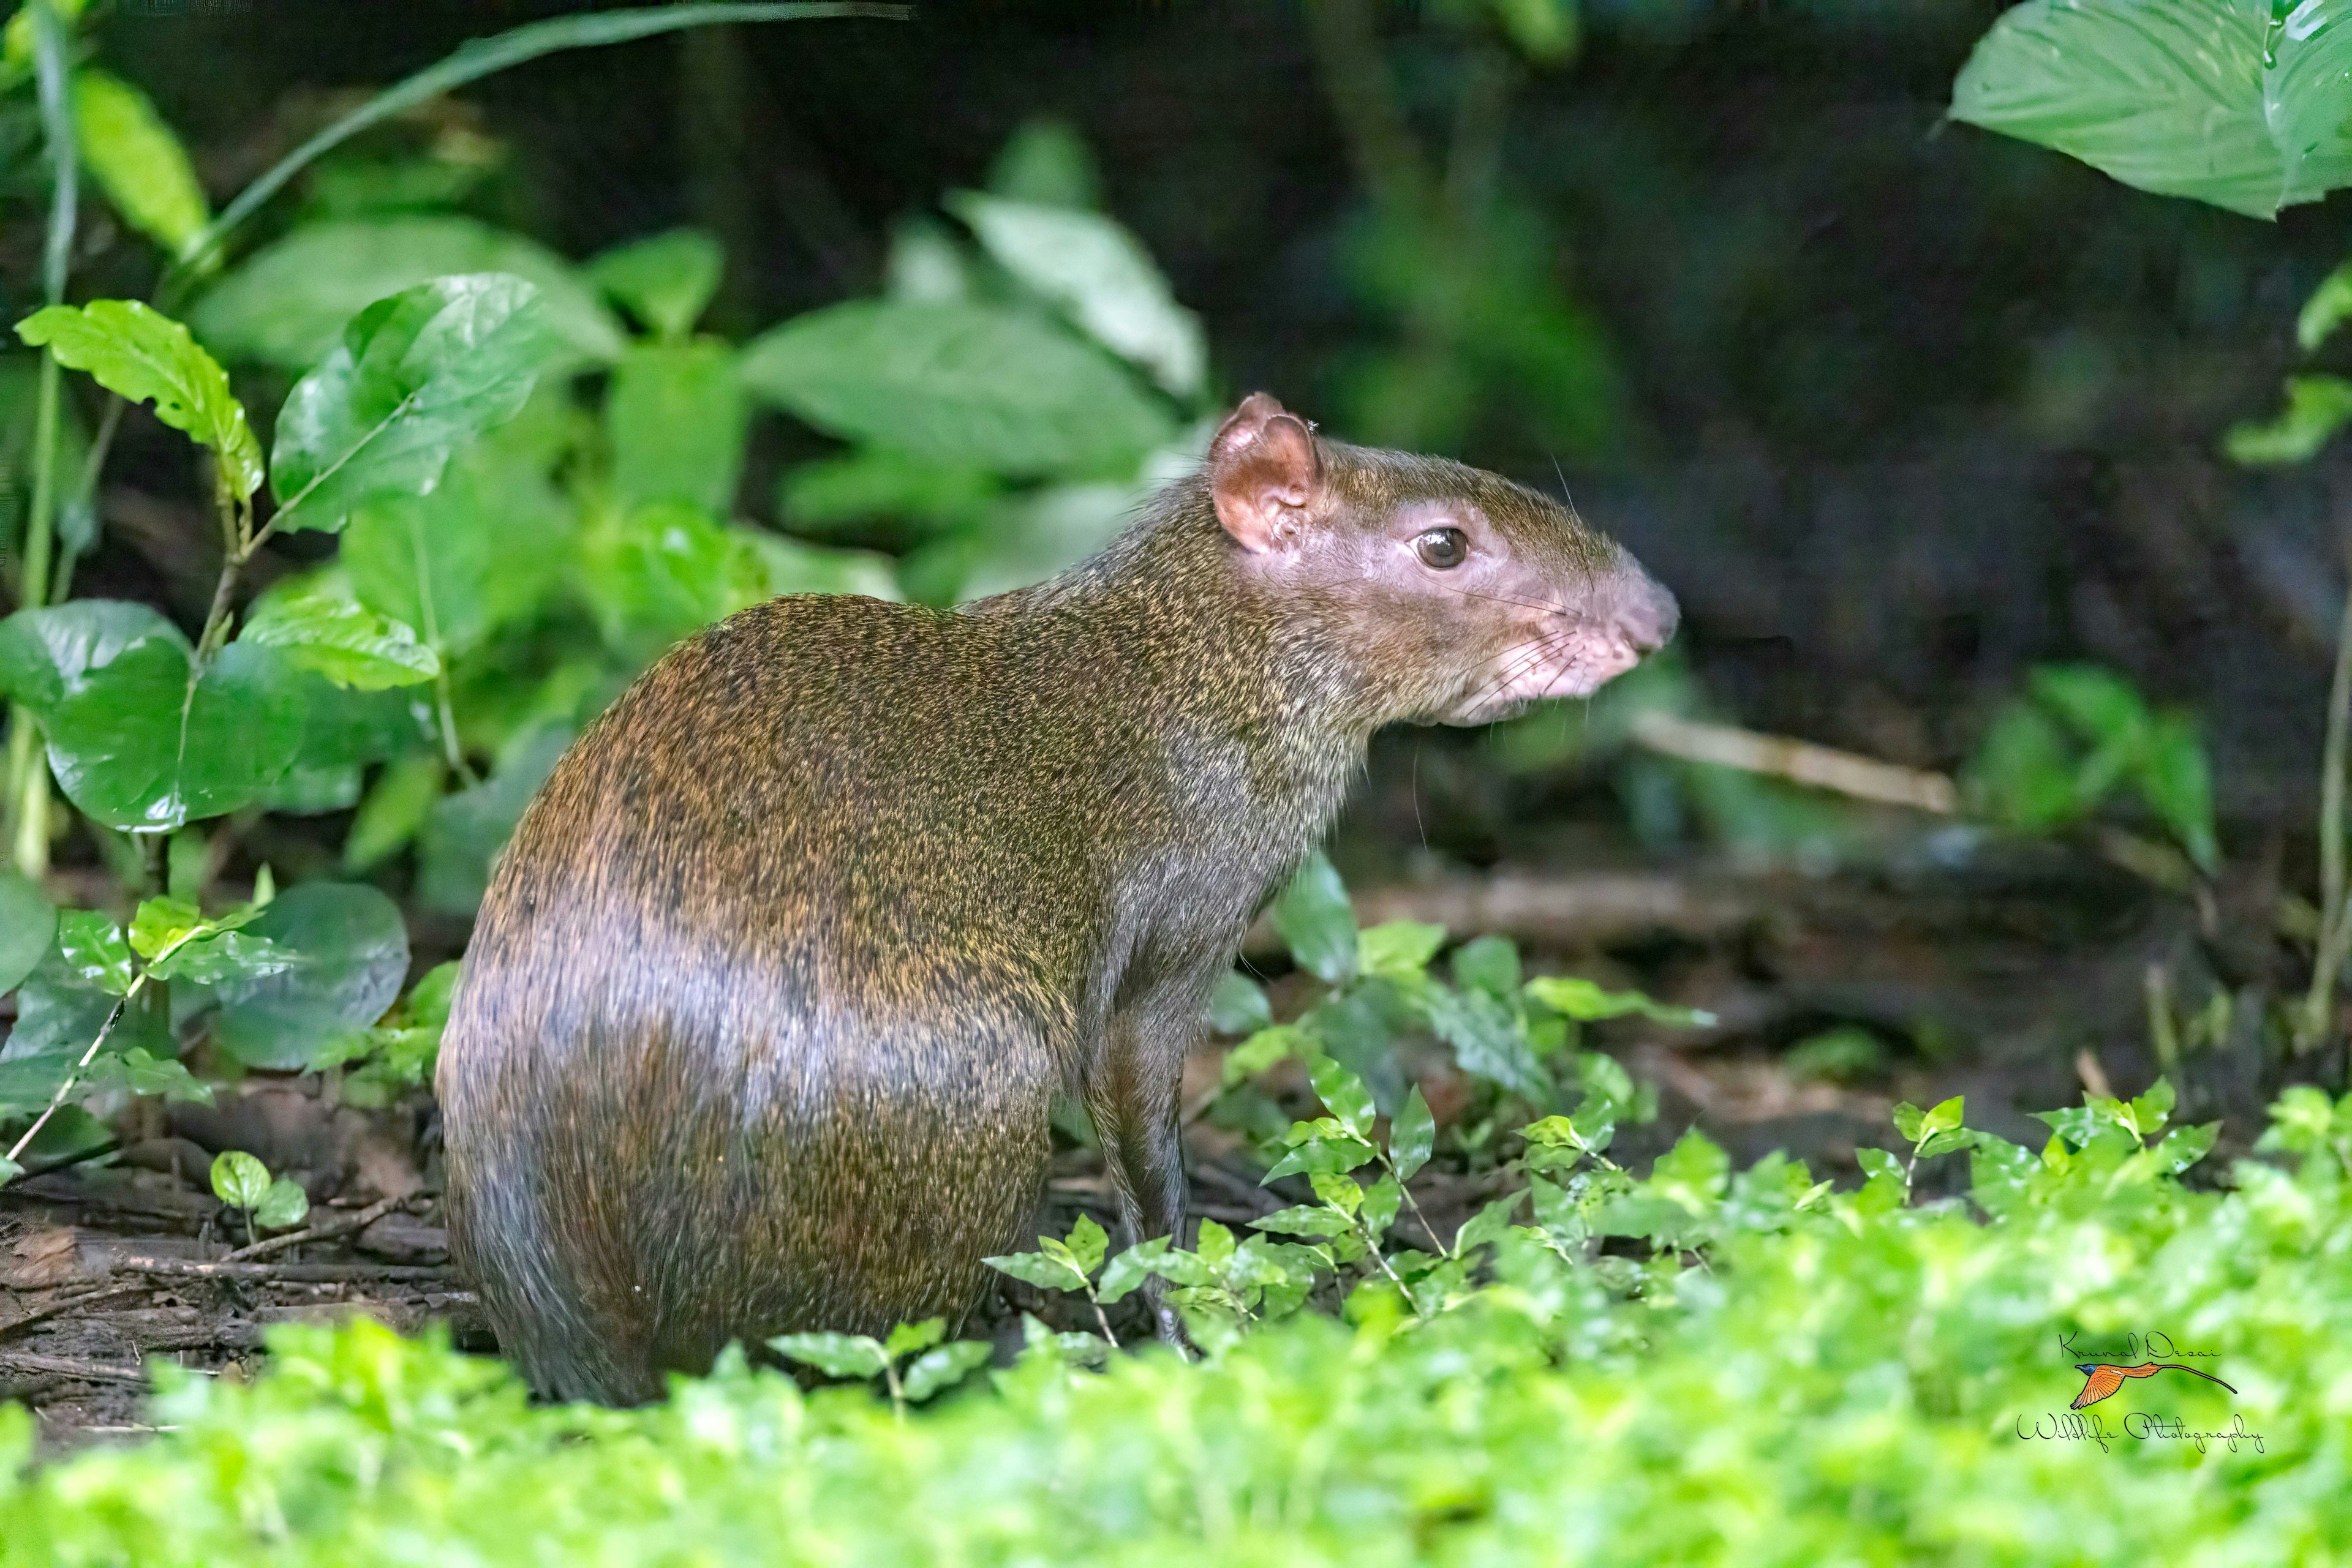
[[[532,802],[449,1016],[499,1342],[640,1401],[729,1340],[962,1314],[1056,1091],[1129,1229],[1181,1232],[1185,1051],[1371,733],[1590,693],[1672,628],[1566,508],[1254,395],[1051,583],[687,639]]]

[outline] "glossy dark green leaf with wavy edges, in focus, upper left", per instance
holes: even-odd
[[[372,498],[430,494],[461,447],[522,409],[553,350],[536,289],[508,273],[379,299],[278,414],[278,527],[334,531]]]

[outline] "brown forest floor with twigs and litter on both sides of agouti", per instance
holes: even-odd
[[[1618,1135],[1635,1168],[1698,1124],[1740,1166],[1785,1150],[1851,1180],[1858,1147],[1896,1143],[1898,1100],[1955,1093],[1969,1095],[1971,1126],[2039,1145],[2046,1128],[2030,1112],[2077,1103],[2086,1084],[2129,1095],[2154,1077],[2150,964],[2213,985],[2199,969],[2209,945],[2197,912],[2084,856],[1823,879],[1505,870],[1371,889],[1357,905],[1367,924],[1416,917],[1456,936],[1501,931],[1519,940],[1531,971],[1642,985],[1712,1011],[1719,1025],[1708,1032],[1623,1023],[1588,1041],[1661,1091],[1658,1119]],[[1301,985],[1272,985],[1277,1016]],[[2260,1013],[2260,987],[2251,992],[2237,992],[2241,1018]],[[1804,1070],[1802,1044],[1832,1030],[1842,1046],[1823,1067],[1835,1070]],[[2225,1119],[2213,1168],[2244,1152],[2274,1088],[2253,1030],[2239,1034],[2176,1067],[2183,1119]],[[1409,1051],[1406,1072],[1442,1124],[1468,1098],[1442,1051]],[[1204,1048],[1188,1103],[1216,1074],[1218,1053]],[[1284,1084],[1277,1072],[1270,1088],[1301,1100],[1284,1110],[1308,1114],[1303,1079]],[[151,1356],[247,1375],[273,1324],[367,1312],[402,1331],[447,1321],[461,1347],[494,1347],[449,1265],[421,1098],[360,1112],[336,1107],[315,1077],[256,1074],[214,1107],[167,1107],[139,1133],[106,1159],[0,1192],[0,1399],[38,1410],[47,1448],[143,1432]],[[1188,1145],[1197,1218],[1242,1225],[1301,1197],[1258,1187],[1240,1140],[1209,1121],[1188,1128]],[[308,1187],[313,1211],[299,1232],[249,1244],[207,1185],[212,1154],[228,1147]],[[1966,1161],[1943,1164],[1950,1171],[1922,1171],[1922,1185],[1959,1190]],[[1486,1197],[1484,1178],[1439,1166],[1416,1178],[1416,1194],[1439,1232]],[[1077,1211],[1110,1225],[1117,1206],[1098,1154],[1063,1147],[1040,1229],[1061,1234]],[[1411,1227],[1404,1241],[1418,1241]],[[1051,1319],[1056,1307],[1004,1281],[969,1328],[1018,1342],[1016,1309]],[[1138,1316],[1115,1321],[1141,1331]]]

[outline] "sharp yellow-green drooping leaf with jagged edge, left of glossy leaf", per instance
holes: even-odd
[[[169,315],[134,299],[94,299],[35,310],[16,322],[16,336],[127,402],[153,402],[155,418],[212,447],[238,498],[261,489],[261,442],[228,390],[228,371]]]

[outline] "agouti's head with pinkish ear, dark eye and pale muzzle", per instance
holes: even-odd
[[[1244,569],[1317,607],[1376,722],[1486,724],[1590,696],[1675,635],[1675,595],[1524,484],[1322,440],[1265,393],[1209,444]]]

